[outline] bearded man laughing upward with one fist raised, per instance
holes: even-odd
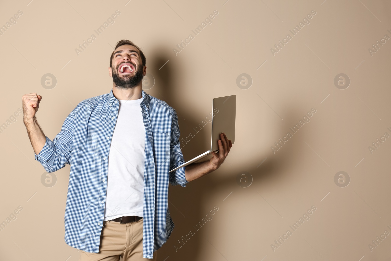
[[[79,103],[53,141],[35,116],[42,96],[22,97],[35,159],[47,172],[70,164],[65,242],[81,250],[82,261],[156,260],[154,252],[174,229],[169,183],[185,187],[216,170],[232,147],[221,133],[210,160],[169,173],[185,162],[178,117],[142,90],[145,61],[133,42],[118,41],[110,57],[111,92]]]

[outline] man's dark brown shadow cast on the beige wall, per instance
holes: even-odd
[[[160,67],[159,65],[163,65],[169,59],[169,57],[164,54],[165,52],[163,50],[154,50],[149,58],[150,67],[152,67],[151,64],[157,68]],[[166,101],[167,104],[177,111],[181,138],[185,138],[188,133],[192,132],[193,127],[200,123],[198,121],[201,118],[200,116],[203,115],[186,113],[191,110],[181,105],[185,104],[183,101],[182,103],[178,102],[181,97],[176,93],[176,90],[179,90],[182,86],[178,85],[174,76],[181,74],[181,66],[178,65],[178,67],[173,67],[173,64],[174,63],[166,63],[160,70],[156,69],[156,71],[153,72],[149,70],[149,73],[153,73],[157,85],[153,91],[147,90],[147,93]],[[188,99],[188,97],[186,99]],[[307,145],[302,140],[303,135],[300,135],[299,130],[298,133],[294,134],[292,139],[289,139],[289,142],[283,145],[280,151],[275,154],[271,153],[270,146],[274,144],[274,140],[277,141],[280,138],[278,135],[283,137],[282,135],[285,135],[291,127],[291,123],[293,125],[293,121],[296,120],[296,117],[298,117],[297,115],[301,113],[298,108],[294,108],[294,105],[287,106],[282,111],[287,120],[281,122],[281,125],[278,126],[278,131],[276,131],[278,134],[276,134],[276,137],[268,137],[268,140],[273,140],[273,142],[271,142],[270,145],[268,144],[265,148],[260,148],[260,153],[246,156],[247,160],[243,160],[242,164],[239,166],[232,166],[232,169],[229,169],[227,173],[224,173],[223,178],[217,179],[211,178],[210,176],[204,176],[199,180],[189,183],[186,188],[183,188],[180,185],[169,186],[169,209],[170,215],[175,223],[175,228],[167,242],[158,250],[158,260],[164,260],[167,256],[170,256],[170,261],[195,261],[201,258],[199,257],[199,253],[204,252],[202,251],[201,246],[208,241],[203,237],[203,232],[197,232],[197,229],[194,226],[196,226],[207,214],[204,209],[209,206],[205,206],[204,202],[207,202],[208,199],[204,197],[211,196],[211,194],[213,197],[214,193],[219,193],[221,190],[226,191],[224,188],[227,190],[236,190],[239,188],[238,193],[240,193],[240,189],[244,188],[240,187],[236,182],[236,176],[239,172],[248,171],[251,173],[253,176],[253,183],[251,186],[257,188],[261,188],[270,183],[275,184],[278,180],[284,178],[285,175],[289,175],[287,174],[289,173],[289,162],[300,157],[303,150],[307,150],[308,148],[304,147]],[[297,120],[299,120],[299,118]],[[248,135],[251,135],[250,130]],[[262,135],[262,133],[260,133],[260,135]],[[205,149],[207,146],[203,144],[203,141],[210,139],[210,132],[208,132],[208,130],[202,130],[197,133],[196,136],[199,142],[197,142],[197,140],[192,140],[192,142],[189,142],[182,149],[183,156],[187,160],[207,150]],[[266,157],[267,160],[257,167],[262,161],[260,161],[260,159]],[[215,173],[218,171],[219,170]],[[219,177],[222,177],[222,175],[219,175]],[[259,199],[254,199],[253,204],[259,204],[258,200]],[[210,206],[210,210],[212,209],[213,206]],[[251,224],[249,224],[248,227],[250,229]],[[184,238],[189,234],[189,230],[194,232],[194,236],[191,236],[190,239],[186,241]],[[232,240],[235,241],[234,236]],[[181,243],[179,243],[179,241]],[[183,246],[181,246],[181,244]]]

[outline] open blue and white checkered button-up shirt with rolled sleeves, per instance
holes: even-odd
[[[168,207],[171,185],[185,187],[185,167],[169,173],[183,163],[179,143],[178,116],[175,110],[142,90],[145,126],[143,257],[152,258],[174,229]],[[117,121],[119,102],[103,94],[81,101],[66,117],[54,140],[46,137],[45,146],[35,159],[47,172],[70,164],[65,207],[65,242],[86,252],[99,252],[106,202],[108,157]],[[126,138],[126,137],[124,137]]]

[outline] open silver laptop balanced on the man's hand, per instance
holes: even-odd
[[[183,163],[181,166],[170,170],[175,171],[181,167],[185,167],[197,161],[205,160],[206,157],[212,155],[212,151],[218,151],[219,145],[217,141],[220,139],[220,133],[224,132],[228,140],[232,144],[235,142],[235,115],[236,115],[236,95],[224,96],[213,99],[212,104],[212,139],[210,142],[210,150],[201,155]],[[217,112],[217,113],[216,113]]]

